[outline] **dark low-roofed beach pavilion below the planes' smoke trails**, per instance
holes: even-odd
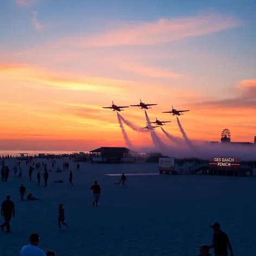
[[[99,149],[89,151],[92,163],[135,163],[136,151],[119,148],[102,146]]]

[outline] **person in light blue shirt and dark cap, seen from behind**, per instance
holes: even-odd
[[[43,250],[38,248],[39,244],[39,235],[33,233],[30,235],[29,242],[30,245],[23,246],[20,252],[20,256],[46,256]]]

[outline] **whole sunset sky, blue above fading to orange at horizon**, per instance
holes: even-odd
[[[181,137],[256,136],[255,1],[0,0],[0,150],[125,146],[117,113]],[[136,107],[121,115],[145,126]],[[126,127],[126,126],[125,126]],[[149,133],[126,127],[135,145]],[[158,131],[161,139],[166,139]]]

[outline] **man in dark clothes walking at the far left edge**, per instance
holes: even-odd
[[[4,227],[7,228],[6,233],[11,233],[10,231],[10,221],[11,216],[14,217],[15,209],[14,209],[14,202],[10,200],[10,196],[7,195],[6,200],[2,202],[1,206],[1,216],[4,216],[4,223],[1,225],[1,230],[4,231]]]

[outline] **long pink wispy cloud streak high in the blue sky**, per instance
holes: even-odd
[[[155,22],[126,24],[117,30],[80,40],[82,45],[93,47],[145,46],[211,34],[243,24],[244,21],[234,16],[206,12],[192,17],[160,18]]]

